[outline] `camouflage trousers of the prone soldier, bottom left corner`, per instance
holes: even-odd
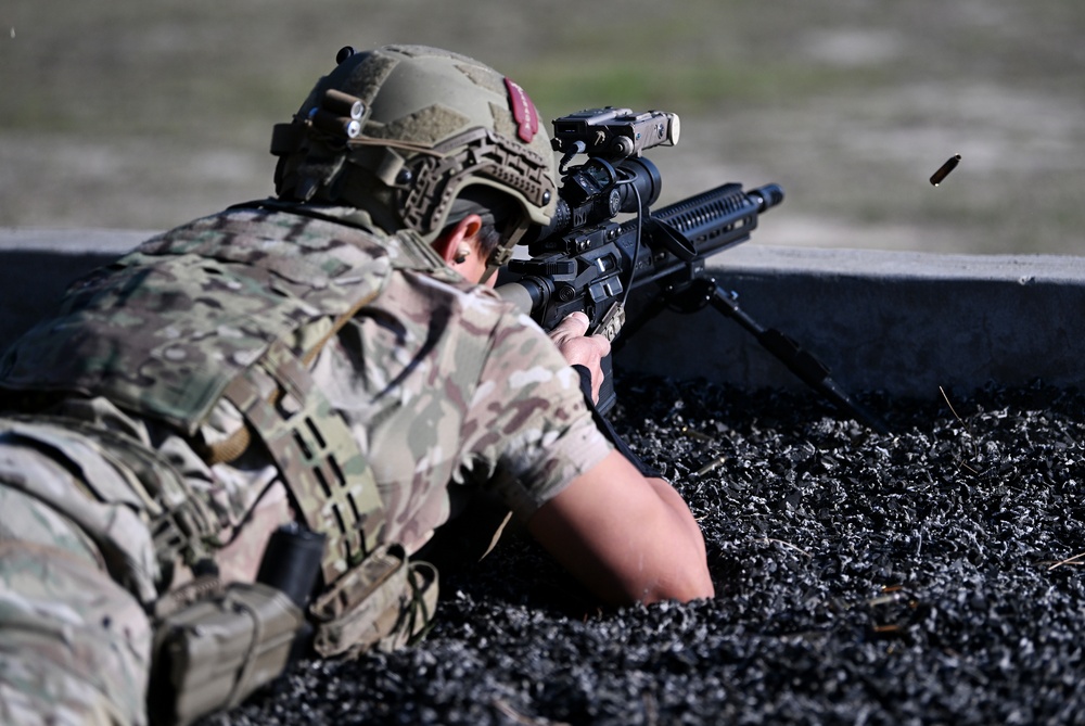
[[[128,502],[85,496],[88,472],[104,473],[94,483],[106,489],[119,479],[108,481],[89,446],[72,437],[62,454],[8,423],[0,419],[0,723],[145,724],[151,624],[108,568],[153,562],[150,533]],[[107,548],[112,537],[123,551]]]

